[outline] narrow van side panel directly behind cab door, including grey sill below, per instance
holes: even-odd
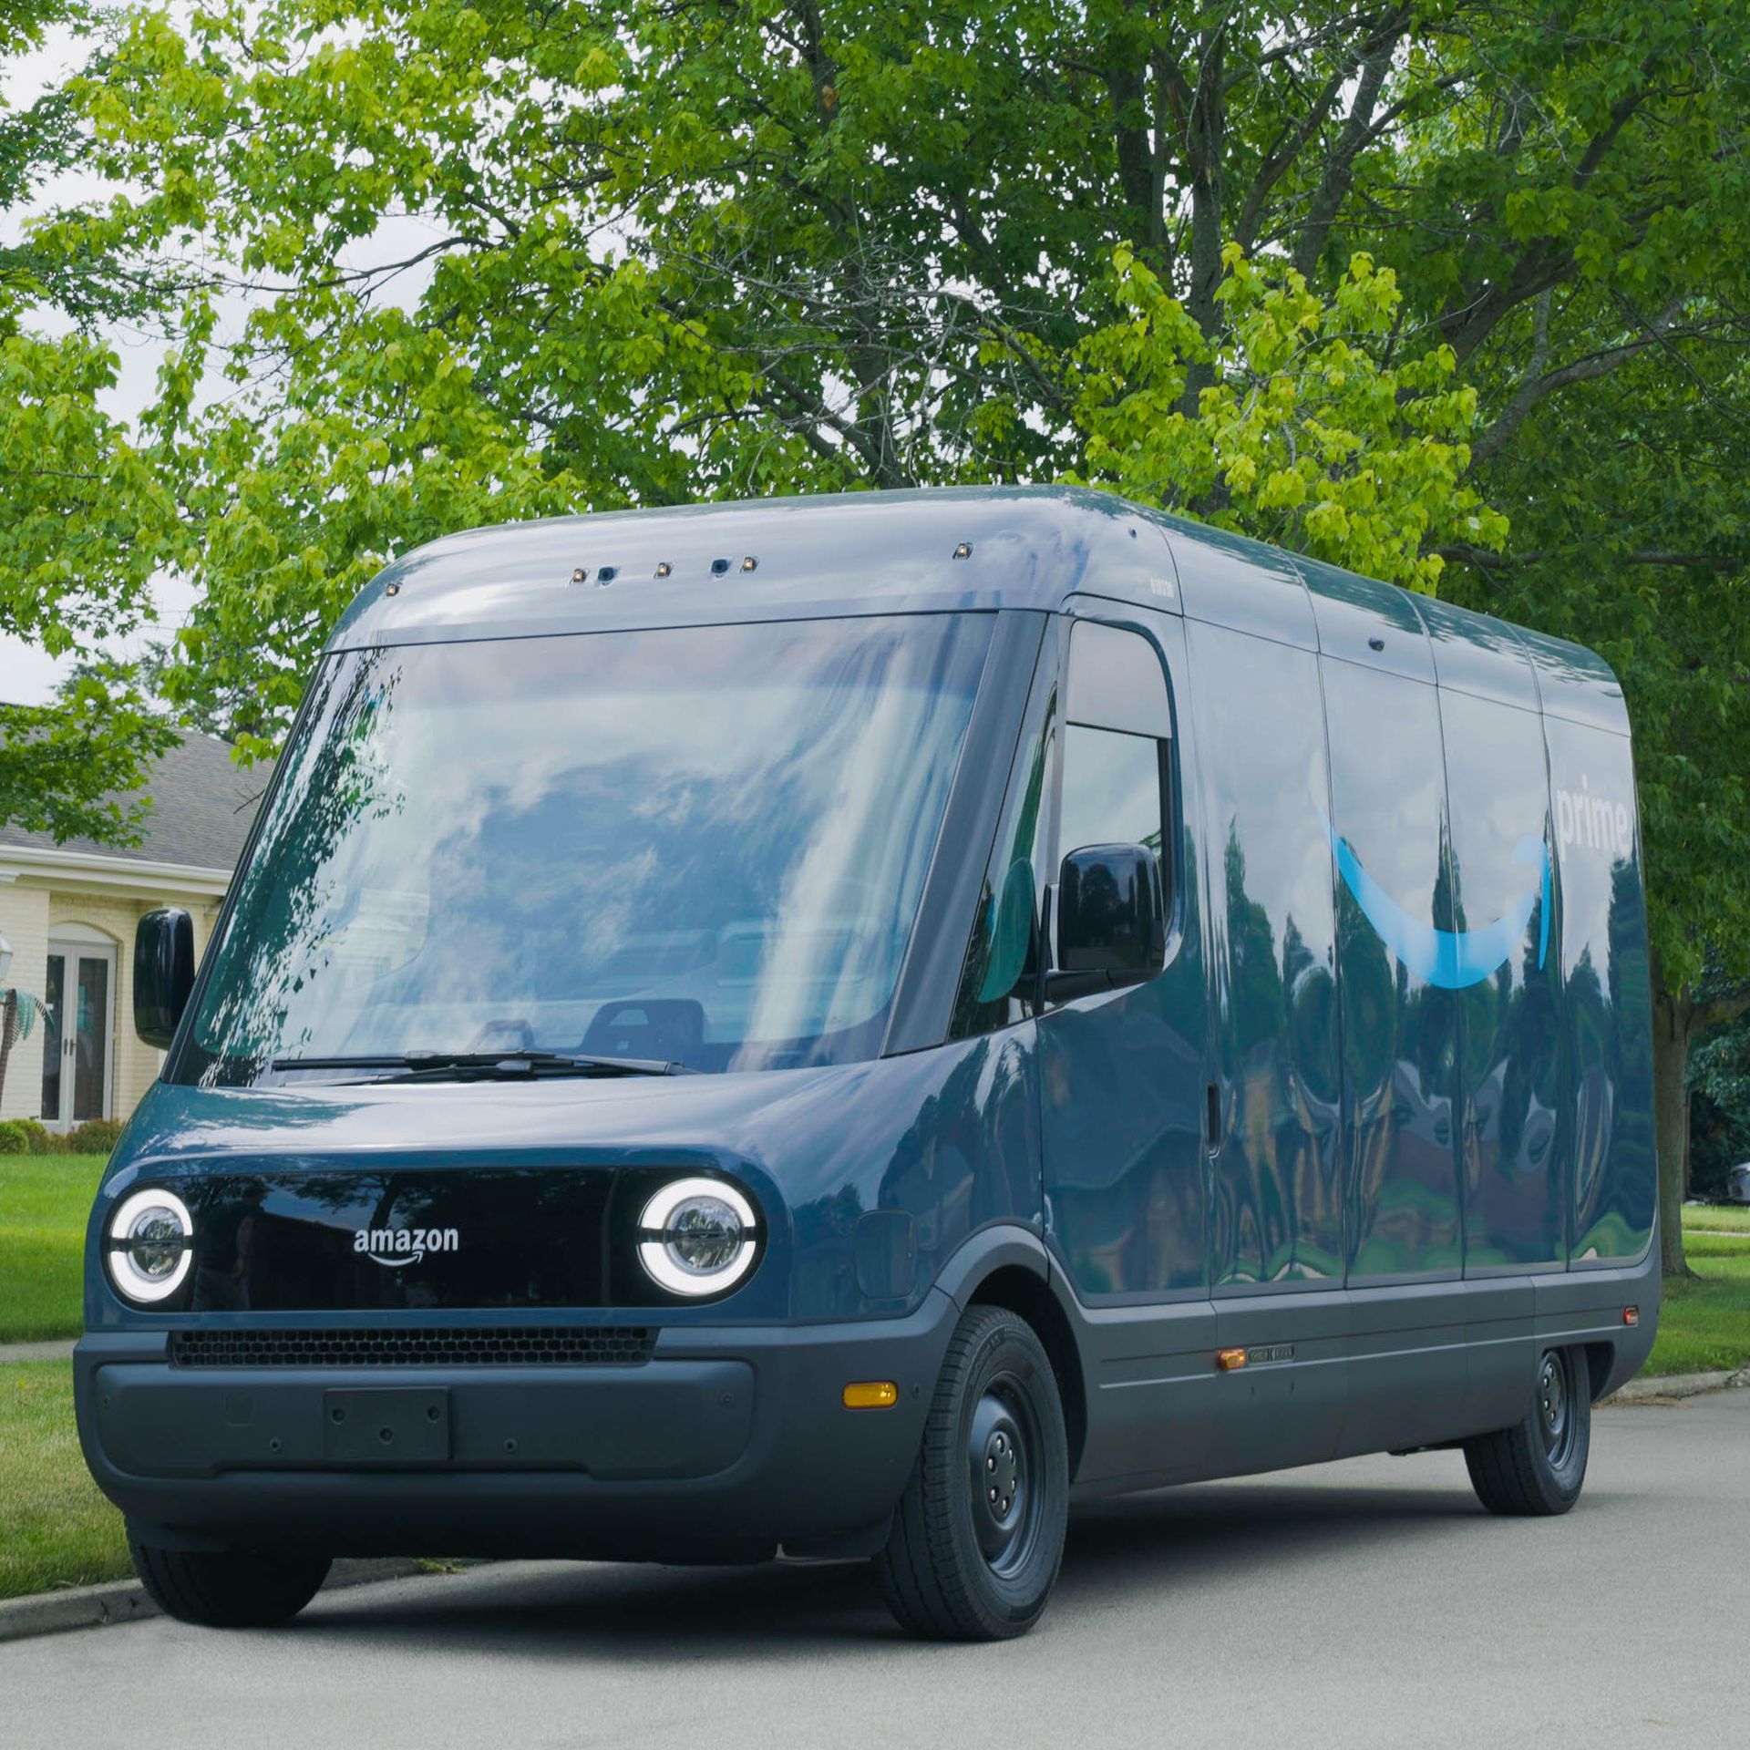
[[[1337,926],[1318,656],[1188,628],[1209,845],[1220,1468],[1330,1458],[1348,1400]]]

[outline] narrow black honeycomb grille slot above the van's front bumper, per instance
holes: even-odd
[[[642,1367],[648,1325],[452,1330],[178,1330],[177,1367]]]

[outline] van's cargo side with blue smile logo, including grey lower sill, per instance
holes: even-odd
[[[1279,564],[1236,588],[1232,542],[1169,537],[1220,1108],[1209,1298],[1102,1306],[1054,1274],[1090,1386],[1078,1488],[1482,1433],[1552,1342],[1612,1390],[1659,1284],[1608,670],[1314,562],[1295,607]],[[1264,1365],[1218,1372],[1236,1346]]]

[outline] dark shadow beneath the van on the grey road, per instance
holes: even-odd
[[[1379,1545],[1426,1556],[1486,1533],[1468,1489],[1211,1484],[1078,1508],[1046,1626],[1080,1608],[1195,1610],[1211,1575],[1223,1584],[1288,1578],[1339,1552]],[[413,1582],[396,1598],[334,1592],[296,1633],[369,1638],[425,1652],[495,1652],[523,1659],[676,1657],[796,1662],[875,1650],[915,1657],[889,1619],[868,1563],[765,1563],[751,1568],[656,1568],[611,1563],[504,1564],[466,1578]],[[936,1648],[952,1657],[954,1648]]]

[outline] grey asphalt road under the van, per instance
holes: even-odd
[[[1750,1391],[1598,1412],[1580,1505],[1451,1452],[1076,1514],[1026,1640],[924,1647],[861,1566],[562,1563],[0,1647],[0,1743],[1746,1745]]]

